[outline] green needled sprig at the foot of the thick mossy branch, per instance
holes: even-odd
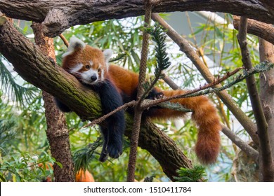
[[[202,166],[195,166],[193,169],[180,168],[176,172],[178,177],[175,176],[174,179],[178,182],[197,182],[199,180],[207,181],[203,179],[205,176],[205,168]]]

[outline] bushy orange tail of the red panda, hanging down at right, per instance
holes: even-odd
[[[165,97],[171,97],[176,94],[183,94],[184,90],[165,90],[162,91]],[[221,124],[214,105],[205,96],[190,97],[185,99],[174,99],[171,102],[177,102],[187,109],[193,110],[192,119],[198,126],[197,143],[195,152],[197,158],[205,165],[214,163],[218,157],[221,139],[219,132]],[[178,118],[184,116],[181,111],[172,111],[170,109],[158,109],[152,113],[155,118]]]

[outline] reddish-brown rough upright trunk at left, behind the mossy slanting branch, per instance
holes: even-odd
[[[44,36],[39,23],[33,22],[32,29],[35,35],[35,43],[39,45],[45,55],[56,61],[53,38]],[[47,125],[46,136],[51,148],[51,155],[62,164],[62,168],[56,163],[53,165],[54,180],[56,182],[73,182],[75,179],[74,164],[64,113],[56,107],[51,94],[43,91],[43,99]]]

